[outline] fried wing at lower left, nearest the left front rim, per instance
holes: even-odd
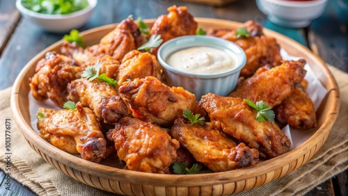
[[[77,110],[38,110],[40,135],[55,147],[99,163],[106,153],[106,140],[93,111],[76,104]]]

